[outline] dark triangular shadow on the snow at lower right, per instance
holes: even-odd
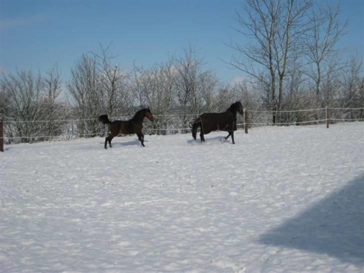
[[[364,176],[260,236],[259,242],[364,262]]]

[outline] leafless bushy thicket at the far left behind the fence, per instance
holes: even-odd
[[[47,140],[61,135],[67,115],[66,105],[57,102],[60,89],[60,73],[56,67],[46,77],[31,71],[16,71],[4,75],[0,93],[8,96],[9,105],[4,114],[13,120],[5,124],[6,134],[20,137],[22,142]],[[60,120],[59,120],[60,119]]]

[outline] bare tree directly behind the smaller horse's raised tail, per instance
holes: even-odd
[[[75,117],[79,120],[75,128],[79,135],[100,133],[103,126],[97,120],[98,115],[114,116],[129,106],[128,75],[120,71],[114,58],[109,46],[100,45],[98,52],[83,54],[71,69],[67,88],[76,105]]]

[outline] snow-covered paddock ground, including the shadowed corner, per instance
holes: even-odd
[[[1,272],[363,272],[364,123],[6,145]]]

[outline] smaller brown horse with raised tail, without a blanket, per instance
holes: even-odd
[[[109,135],[105,138],[105,149],[107,149],[107,141],[108,145],[111,147],[111,139],[119,133],[136,133],[141,145],[144,147],[144,134],[141,132],[141,129],[143,128],[142,123],[144,117],[148,118],[150,121],[153,121],[153,116],[149,108],[138,110],[129,120],[110,121],[107,117],[107,114],[100,115],[98,120],[103,124],[108,124],[108,128],[110,130]]]

